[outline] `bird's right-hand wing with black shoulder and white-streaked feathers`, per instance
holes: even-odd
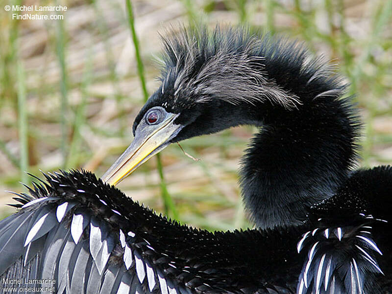
[[[391,209],[386,166],[356,171],[335,196],[312,207],[316,226],[297,245],[308,252],[297,293],[392,291]]]

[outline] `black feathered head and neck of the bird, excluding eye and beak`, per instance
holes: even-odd
[[[164,43],[162,86],[137,115],[134,135],[161,106],[184,126],[170,142],[263,127],[242,159],[245,207],[263,228],[301,224],[305,208],[331,196],[357,157],[360,122],[342,98],[341,77],[297,42],[245,28],[182,31]]]

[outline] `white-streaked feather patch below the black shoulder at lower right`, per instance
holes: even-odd
[[[358,225],[321,226],[305,233],[297,249],[307,250],[297,286],[298,294],[378,293],[376,276],[384,274],[382,255],[372,236],[375,222],[359,215]]]

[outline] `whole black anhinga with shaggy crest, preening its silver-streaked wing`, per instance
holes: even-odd
[[[351,171],[360,124],[340,77],[297,43],[246,28],[182,29],[163,41],[162,85],[106,183],[85,171],[47,174],[0,222],[7,286],[24,292],[35,281],[12,279],[30,278],[54,279],[38,282],[57,293],[390,293],[392,168]],[[244,124],[262,127],[241,169],[257,229],[179,225],[111,185],[172,142]]]

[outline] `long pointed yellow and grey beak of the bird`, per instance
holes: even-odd
[[[123,154],[101,177],[108,184],[116,185],[149,158],[165,149],[170,140],[184,127],[174,124],[178,114],[168,113],[158,125],[140,124],[135,138]]]

